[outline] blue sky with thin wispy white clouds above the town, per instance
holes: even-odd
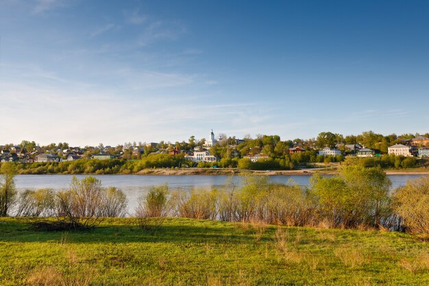
[[[0,0],[0,144],[429,132],[428,1]]]

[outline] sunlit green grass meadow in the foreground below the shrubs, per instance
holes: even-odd
[[[404,233],[168,218],[34,232],[0,219],[0,285],[429,285],[428,243]]]

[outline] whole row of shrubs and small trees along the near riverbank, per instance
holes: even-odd
[[[123,191],[102,187],[91,176],[73,177],[69,189],[57,193],[49,189],[17,193],[16,166],[2,165],[1,172],[0,215],[39,217],[34,220],[39,229],[86,229],[127,213]],[[152,187],[139,199],[138,208],[127,214],[143,228],[152,226],[154,217],[179,216],[429,235],[429,177],[390,190],[391,181],[380,167],[354,165],[342,167],[337,176],[313,176],[308,187],[271,183],[267,176],[246,176],[241,186],[231,180],[224,189],[186,192],[167,185]]]

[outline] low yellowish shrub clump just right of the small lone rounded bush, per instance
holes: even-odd
[[[172,202],[176,213],[180,217],[195,219],[216,219],[218,191],[206,191],[204,189],[193,190],[190,194],[184,191],[173,193]]]

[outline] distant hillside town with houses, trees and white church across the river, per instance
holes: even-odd
[[[396,158],[397,157],[397,158]],[[191,136],[182,142],[124,143],[110,146],[73,147],[68,143],[40,146],[34,141],[0,145],[0,161],[21,164],[64,163],[76,160],[138,161],[151,158],[144,167],[238,167],[242,169],[294,169],[311,163],[343,162],[367,158],[364,165],[382,167],[426,167],[429,134],[363,132],[357,136],[321,132],[315,139],[281,141],[277,135],[256,138],[219,134],[208,139]],[[171,159],[175,158],[175,159]],[[368,158],[372,158],[369,159]],[[161,163],[158,161],[162,161]],[[169,161],[169,163],[166,163]],[[158,162],[158,163],[157,163]],[[25,167],[23,167],[25,169]]]

